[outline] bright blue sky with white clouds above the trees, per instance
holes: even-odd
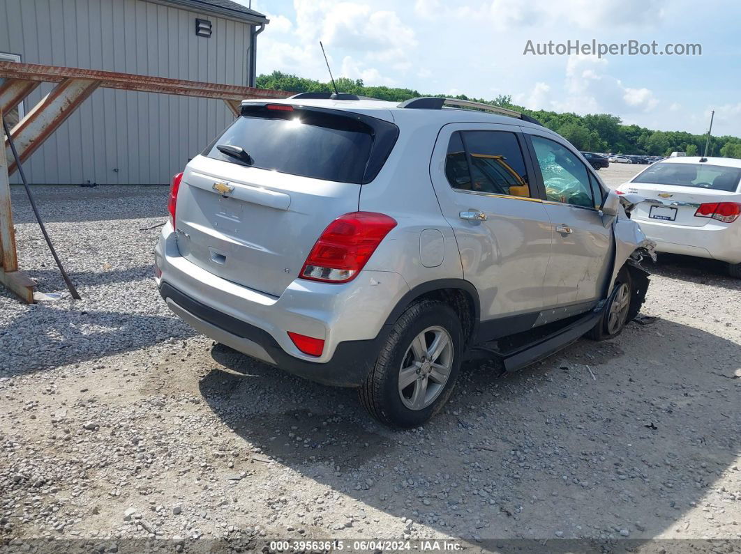
[[[257,72],[335,77],[625,124],[741,136],[741,2],[718,0],[238,0],[270,24]],[[702,55],[525,54],[528,41],[700,44]]]

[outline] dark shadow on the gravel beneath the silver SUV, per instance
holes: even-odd
[[[220,345],[222,368],[199,387],[236,442],[415,525],[464,539],[647,539],[734,464],[738,351],[675,322],[631,324],[504,377],[466,365],[451,402],[409,431],[378,425],[353,390]]]

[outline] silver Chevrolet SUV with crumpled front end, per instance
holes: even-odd
[[[508,109],[244,101],[173,179],[156,280],[213,340],[359,388],[373,416],[409,428],[445,404],[465,359],[515,371],[619,334],[651,249],[627,202]]]

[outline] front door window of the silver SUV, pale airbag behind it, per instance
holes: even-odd
[[[568,149],[548,138],[531,135],[545,184],[545,197],[554,202],[594,208],[589,172]]]

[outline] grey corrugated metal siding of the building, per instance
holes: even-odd
[[[249,44],[248,24],[144,0],[0,0],[0,52],[30,64],[244,85]],[[168,183],[232,120],[219,100],[98,89],[24,169],[32,183]]]

